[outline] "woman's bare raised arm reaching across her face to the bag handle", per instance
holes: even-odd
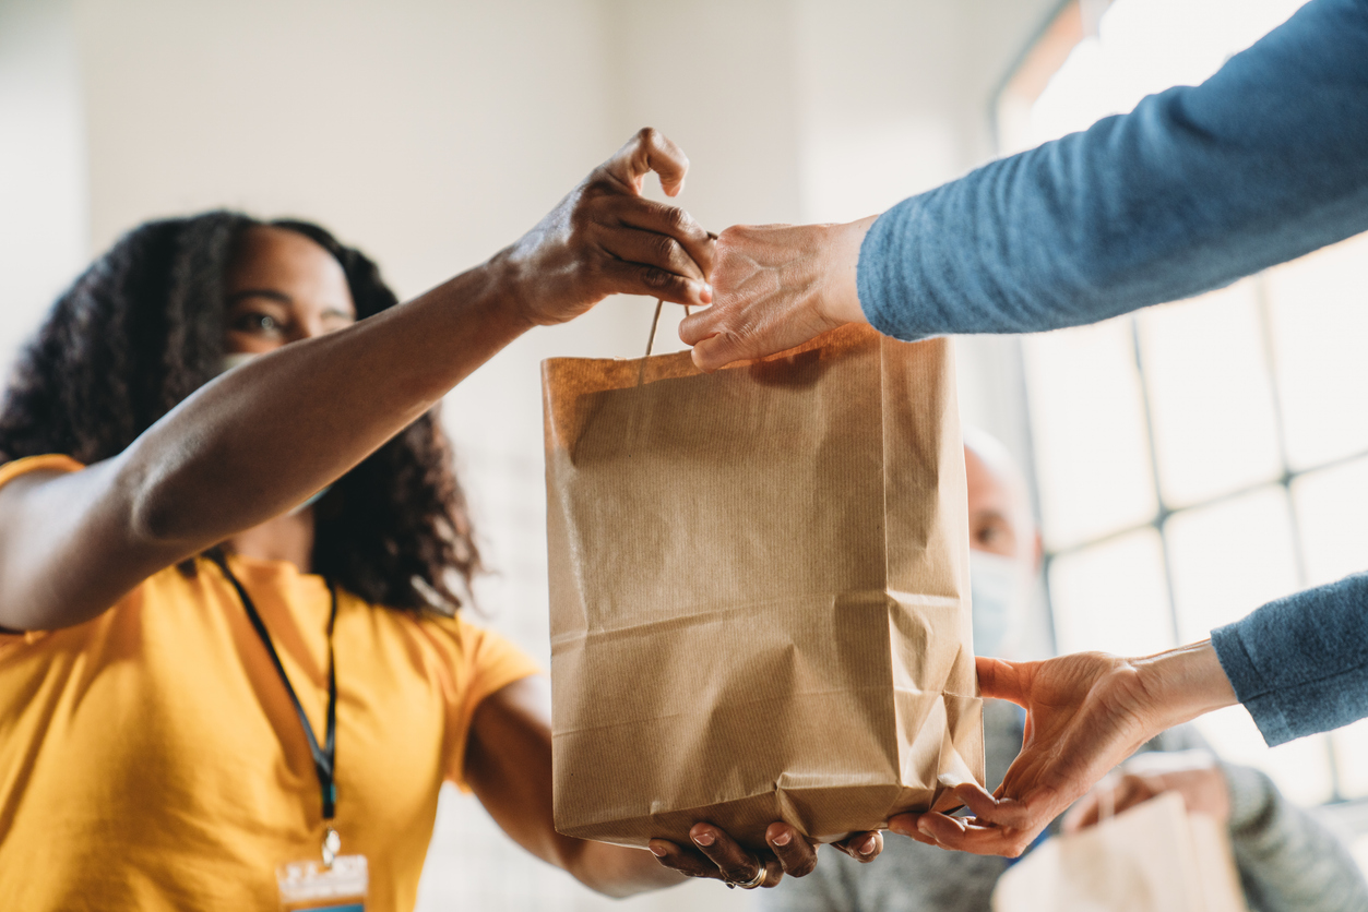
[[[0,628],[86,621],[152,573],[342,476],[538,324],[610,294],[702,305],[713,242],[640,196],[688,159],[643,130],[487,263],[207,384],[118,457],[0,487]]]

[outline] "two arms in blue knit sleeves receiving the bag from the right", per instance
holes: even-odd
[[[721,234],[717,301],[680,338],[714,369],[870,323],[899,339],[1082,325],[1218,289],[1368,230],[1368,0],[1312,0],[1200,86],[848,224]],[[1326,327],[1332,331],[1332,327]],[[1368,574],[1179,649],[979,660],[1027,708],[1001,800],[891,824],[1016,855],[1157,732],[1241,703],[1270,747],[1368,716]],[[1105,606],[1099,606],[1105,610]]]

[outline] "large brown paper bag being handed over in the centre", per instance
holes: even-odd
[[[834,840],[982,782],[948,340],[542,372],[557,830]]]

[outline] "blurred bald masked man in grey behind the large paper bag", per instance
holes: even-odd
[[[969,483],[970,587],[974,649],[1010,655],[1034,595],[1041,540],[1026,480],[1007,448],[982,431],[964,432]],[[984,703],[989,788],[996,788],[1022,745],[1022,711]],[[1115,781],[1085,796],[1064,830],[1096,823],[1111,793],[1115,812],[1163,792],[1183,796],[1187,809],[1227,826],[1252,912],[1341,912],[1368,908],[1368,883],[1347,848],[1278,792],[1263,773],[1223,763],[1187,726],[1150,740]],[[921,837],[921,834],[917,834]],[[925,844],[923,844],[925,842]],[[862,868],[834,856],[802,881],[763,894],[773,912],[989,912],[1008,861],[947,852],[934,841],[889,840],[878,864]]]

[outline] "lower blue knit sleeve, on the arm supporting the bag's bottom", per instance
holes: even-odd
[[[1211,641],[1271,745],[1368,716],[1368,574],[1271,602]]]

